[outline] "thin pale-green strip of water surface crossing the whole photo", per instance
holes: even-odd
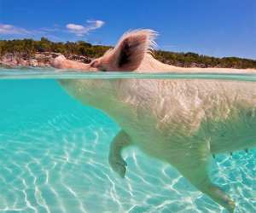
[[[78,72],[57,70],[50,67],[45,68],[23,68],[13,69],[0,68],[0,79],[226,79],[241,81],[256,81],[253,73],[179,73],[179,72]]]

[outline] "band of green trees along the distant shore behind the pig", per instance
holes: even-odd
[[[92,45],[84,41],[78,42],[51,42],[46,37],[36,41],[33,39],[0,40],[0,55],[8,53],[19,55],[34,55],[42,52],[55,52],[62,55],[84,55],[90,58],[102,56],[110,46]],[[224,67],[224,68],[256,68],[256,60],[242,59],[238,57],[217,58],[195,53],[176,53],[163,50],[155,50],[154,57],[166,64],[174,66],[200,66],[200,67]]]

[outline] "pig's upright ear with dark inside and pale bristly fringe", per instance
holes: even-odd
[[[136,70],[144,56],[154,49],[156,35],[152,30],[126,32],[115,48],[103,55],[102,62],[108,66],[108,70]]]

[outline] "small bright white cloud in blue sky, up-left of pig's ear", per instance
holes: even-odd
[[[67,24],[68,32],[72,32],[77,36],[84,36],[88,34],[90,31],[101,28],[105,22],[103,20],[87,20],[87,26],[81,26],[76,24]]]

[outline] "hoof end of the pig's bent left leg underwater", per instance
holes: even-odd
[[[120,155],[114,156],[113,154],[110,154],[108,157],[108,163],[112,170],[119,174],[120,177],[125,177],[127,163]]]

